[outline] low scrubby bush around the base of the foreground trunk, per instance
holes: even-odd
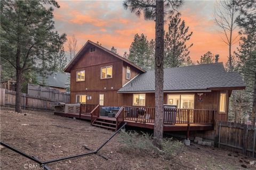
[[[148,133],[139,134],[135,131],[121,130],[119,142],[124,144],[126,151],[140,151],[149,155],[163,155],[165,158],[177,156],[183,151],[182,142],[171,139],[164,139],[161,142],[162,150],[153,145],[153,137]]]

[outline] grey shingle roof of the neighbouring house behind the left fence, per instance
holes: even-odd
[[[68,84],[68,77],[69,73],[53,72],[52,74],[46,76],[45,85],[51,87],[66,88]],[[37,81],[42,83],[43,78],[41,75],[37,75]]]

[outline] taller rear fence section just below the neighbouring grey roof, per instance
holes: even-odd
[[[67,92],[61,92],[58,89],[43,87],[36,84],[28,84],[27,93],[29,96],[43,97],[62,103],[69,103],[70,101],[70,95],[67,94]]]

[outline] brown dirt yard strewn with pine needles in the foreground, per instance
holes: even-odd
[[[83,145],[96,149],[113,134],[113,131],[91,126],[90,122],[50,112],[18,114],[2,107],[0,118],[1,141],[43,161],[89,152]],[[250,165],[252,158],[227,150],[192,144],[179,156],[166,160],[126,152],[117,139],[118,134],[100,150],[108,160],[93,154],[48,165],[51,169],[256,169]],[[4,147],[1,147],[0,158],[1,169],[28,169],[29,164],[36,165]]]

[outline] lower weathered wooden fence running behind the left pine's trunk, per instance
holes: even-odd
[[[16,91],[11,91],[7,89],[0,88],[0,104],[1,106],[14,107],[16,99]],[[28,94],[21,94],[21,108],[22,109],[32,109],[40,111],[53,111],[53,107],[50,106],[51,102],[56,102],[51,99],[43,97],[34,97]]]

